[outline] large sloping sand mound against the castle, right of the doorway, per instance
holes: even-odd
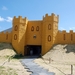
[[[75,45],[55,45],[43,58],[59,62],[75,62]]]

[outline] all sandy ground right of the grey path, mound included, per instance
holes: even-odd
[[[75,45],[55,45],[42,59],[35,62],[55,75],[71,74],[73,65],[73,75],[75,75]]]

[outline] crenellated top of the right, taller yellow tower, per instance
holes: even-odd
[[[59,15],[55,15],[54,13],[52,13],[51,15],[45,14],[45,16],[43,16],[43,21],[59,21]]]

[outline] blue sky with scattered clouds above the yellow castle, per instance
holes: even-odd
[[[75,0],[0,0],[0,31],[12,27],[14,16],[42,20],[46,13],[59,15],[59,30],[75,31]]]

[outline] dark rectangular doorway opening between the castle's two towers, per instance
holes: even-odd
[[[25,46],[25,56],[41,56],[41,46],[40,45]]]

